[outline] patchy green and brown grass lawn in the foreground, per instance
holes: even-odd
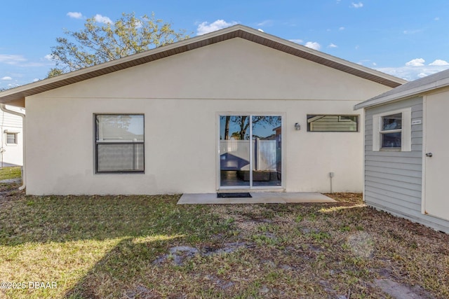
[[[0,280],[27,288],[0,294],[387,298],[375,281],[389,279],[449,297],[448,235],[369,209],[361,195],[330,196],[339,202],[177,206],[178,195],[15,193],[0,199]]]

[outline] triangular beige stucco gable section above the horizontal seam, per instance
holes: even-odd
[[[37,97],[360,101],[390,89],[250,41],[232,39]]]

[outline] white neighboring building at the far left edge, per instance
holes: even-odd
[[[25,113],[25,109],[8,106],[8,109]],[[23,163],[22,118],[0,111],[0,167],[18,166]]]

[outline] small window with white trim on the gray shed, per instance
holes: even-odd
[[[410,108],[373,116],[373,151],[411,151]]]

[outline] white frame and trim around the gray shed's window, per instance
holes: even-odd
[[[401,129],[382,130],[382,118],[394,114],[402,114]],[[382,133],[401,132],[401,148],[382,148]],[[373,151],[412,151],[412,109],[398,109],[373,116]]]

